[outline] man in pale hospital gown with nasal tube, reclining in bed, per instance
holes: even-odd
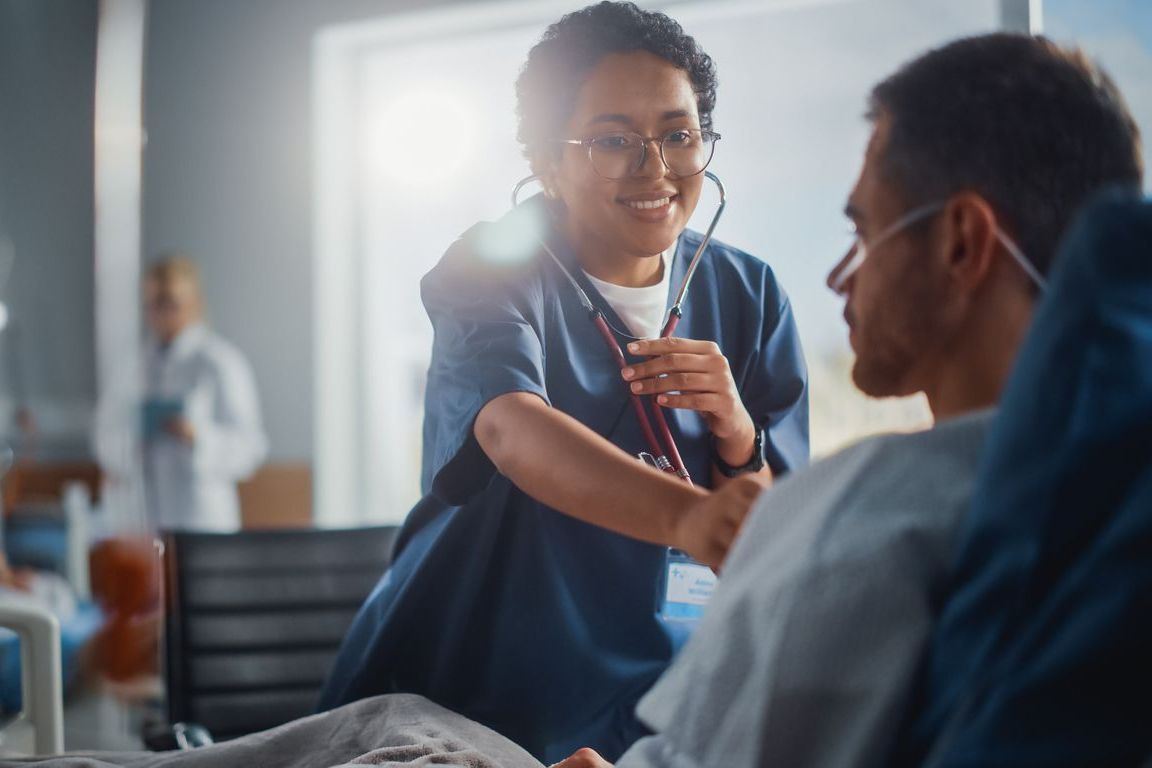
[[[1041,38],[932,51],[876,86],[869,117],[846,208],[857,239],[828,283],[856,385],[923,391],[937,425],[760,497],[704,623],[639,704],[654,733],[620,768],[882,765],[1056,242],[1093,191],[1140,185],[1111,79]]]

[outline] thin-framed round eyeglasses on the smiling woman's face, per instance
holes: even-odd
[[[696,128],[677,128],[664,136],[641,136],[634,131],[604,134],[592,138],[566,138],[561,144],[588,147],[592,170],[601,178],[615,181],[637,173],[647,160],[647,145],[655,142],[660,160],[675,176],[703,173],[712,162],[720,134]]]

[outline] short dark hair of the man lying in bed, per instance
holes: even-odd
[[[890,121],[881,168],[905,204],[980,195],[1041,273],[1094,191],[1142,184],[1139,129],[1115,83],[1043,37],[930,51],[877,85],[869,107]]]

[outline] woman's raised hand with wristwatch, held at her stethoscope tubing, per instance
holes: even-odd
[[[628,344],[628,351],[651,358],[622,371],[634,394],[655,395],[659,405],[698,412],[715,436],[720,457],[734,466],[748,463],[756,425],[715,342],[646,339]]]

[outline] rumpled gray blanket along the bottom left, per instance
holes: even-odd
[[[188,752],[75,753],[0,760],[44,768],[541,768],[479,723],[418,695],[380,695]]]

